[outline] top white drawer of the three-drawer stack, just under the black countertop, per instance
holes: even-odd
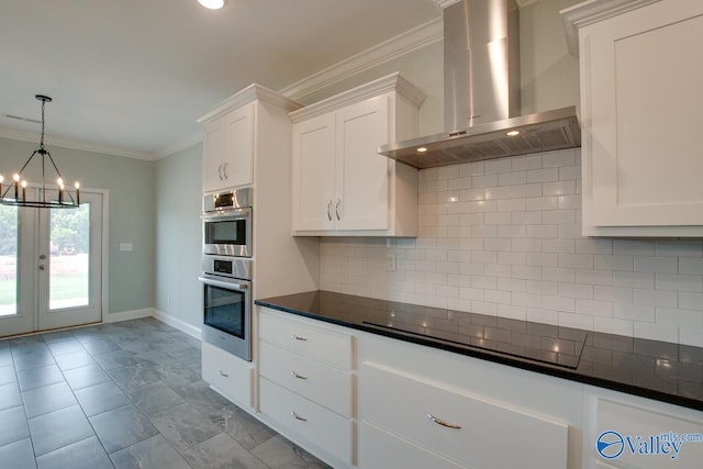
[[[352,336],[348,334],[284,319],[261,309],[259,336],[261,340],[313,360],[352,369]]]

